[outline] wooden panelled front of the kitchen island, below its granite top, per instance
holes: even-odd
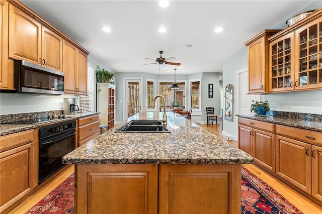
[[[240,213],[240,165],[75,165],[76,212]]]

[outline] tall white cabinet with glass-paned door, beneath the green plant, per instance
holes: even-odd
[[[100,124],[107,124],[107,129],[114,127],[115,85],[98,82],[96,106],[100,113]]]

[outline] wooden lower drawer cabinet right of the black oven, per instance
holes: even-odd
[[[77,128],[77,141],[76,147],[86,144],[90,140],[98,137],[99,134],[99,116],[94,115],[90,117],[78,119]]]

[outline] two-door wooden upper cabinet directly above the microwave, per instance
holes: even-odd
[[[62,70],[62,37],[10,5],[9,57]]]

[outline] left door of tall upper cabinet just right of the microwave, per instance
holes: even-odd
[[[66,40],[63,41],[63,64],[65,93],[77,93],[77,48]]]

